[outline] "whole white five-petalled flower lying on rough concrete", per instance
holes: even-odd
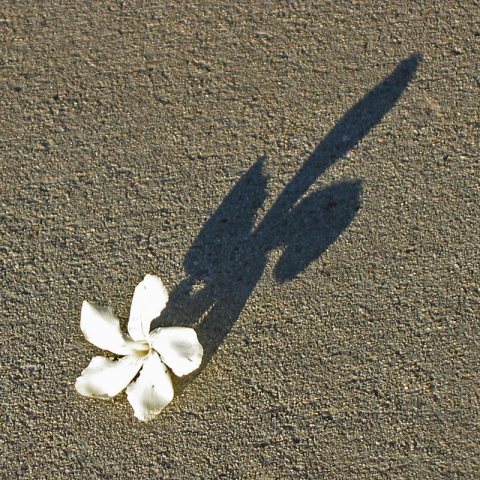
[[[126,355],[119,360],[94,357],[77,378],[75,388],[87,397],[107,400],[127,388],[135,416],[151,420],[173,399],[168,367],[177,376],[187,375],[202,363],[203,348],[193,328],[161,327],[150,332],[153,319],[167,304],[162,281],[147,275],[133,294],[128,334],[110,307],[83,302],[80,328],[85,338],[104,350]]]

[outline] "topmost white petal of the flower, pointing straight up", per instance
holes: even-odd
[[[133,294],[128,333],[134,340],[145,340],[152,320],[157,318],[168,301],[168,293],[162,281],[154,275],[146,275]]]

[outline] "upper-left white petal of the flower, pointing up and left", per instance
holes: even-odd
[[[135,344],[129,335],[120,330],[120,322],[110,307],[99,307],[85,300],[80,328],[90,343],[118,355],[129,355],[135,350],[145,349],[145,346]]]

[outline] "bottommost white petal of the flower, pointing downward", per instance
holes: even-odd
[[[127,388],[135,416],[143,421],[151,420],[172,401],[173,394],[167,367],[156,352],[150,352],[137,381]]]

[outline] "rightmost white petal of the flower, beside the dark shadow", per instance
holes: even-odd
[[[193,372],[202,363],[203,347],[193,328],[156,328],[150,333],[149,342],[179,377]]]

